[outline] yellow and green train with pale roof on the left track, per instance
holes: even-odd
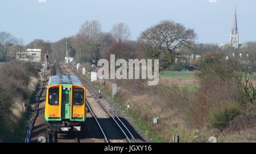
[[[81,131],[86,119],[85,88],[76,76],[56,75],[48,81],[47,132]]]

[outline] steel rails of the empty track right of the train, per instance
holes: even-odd
[[[63,68],[68,68],[67,66],[63,65]],[[68,74],[71,74],[70,70],[67,69]],[[74,72],[73,72],[74,73]],[[127,126],[122,122],[122,120],[115,114],[113,110],[108,110],[104,103],[101,101],[100,95],[94,90],[93,86],[90,84],[89,81],[85,80],[84,78],[81,78],[77,72],[75,72],[76,76],[80,78],[82,83],[85,85],[86,89],[90,91],[90,93],[93,95],[93,97],[96,99],[97,103],[102,107],[102,109],[105,111],[106,114],[113,120],[116,127],[118,127],[118,130],[122,132],[123,136],[125,136],[125,139],[129,143],[138,143],[137,139],[135,139],[134,135],[131,134],[130,130],[127,128]],[[90,107],[90,103],[86,101],[86,105],[88,107],[88,110],[92,114],[93,118],[96,120],[96,123],[98,124],[98,127],[101,130],[102,135],[104,136],[104,140],[106,143],[110,142],[110,139],[108,138],[108,135],[106,135],[104,129],[101,126],[101,123],[99,122],[97,116],[94,114],[92,107]]]

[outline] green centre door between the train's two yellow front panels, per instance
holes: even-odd
[[[62,90],[62,99],[61,99],[61,118],[69,119],[70,118],[70,90]]]

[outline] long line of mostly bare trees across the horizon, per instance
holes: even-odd
[[[40,48],[43,55],[48,53],[51,60],[64,61],[65,44],[68,44],[68,54],[77,62],[97,64],[104,58],[109,59],[114,54],[117,59],[159,59],[160,70],[186,69],[191,64],[178,63],[183,55],[204,55],[208,52],[224,53],[255,51],[256,43],[249,42],[244,48],[234,49],[231,45],[219,47],[216,44],[197,43],[197,34],[183,24],[174,20],[162,20],[142,31],[137,40],[130,39],[130,28],[125,23],[114,24],[109,32],[102,31],[98,20],[90,20],[81,24],[77,34],[56,42],[35,39],[27,45],[22,45],[19,39],[6,32],[0,33],[1,60],[15,59],[15,53],[27,48]],[[251,54],[254,54],[252,52]],[[175,68],[176,66],[176,68]]]

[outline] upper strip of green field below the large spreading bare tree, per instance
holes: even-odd
[[[176,72],[176,71],[167,71],[167,72],[160,72],[160,77],[172,77],[172,78],[195,78],[195,72]]]

